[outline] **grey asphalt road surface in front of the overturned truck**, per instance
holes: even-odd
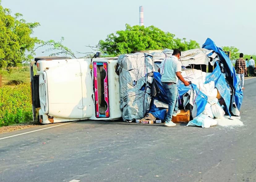
[[[0,181],[256,181],[255,88],[243,127],[83,121],[0,140]]]

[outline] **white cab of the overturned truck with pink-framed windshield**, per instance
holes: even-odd
[[[122,117],[117,57],[42,57],[35,61],[35,75],[31,66],[34,120],[48,124]]]

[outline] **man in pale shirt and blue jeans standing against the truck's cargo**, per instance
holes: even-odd
[[[185,86],[189,86],[189,82],[181,75],[180,56],[181,51],[174,49],[172,57],[163,60],[159,69],[159,72],[162,75],[161,82],[168,97],[168,112],[164,119],[164,126],[166,127],[176,126],[176,124],[172,122],[172,118],[181,112],[178,110],[178,91],[176,85],[178,79],[181,80]]]

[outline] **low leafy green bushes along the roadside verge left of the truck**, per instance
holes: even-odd
[[[0,88],[0,127],[32,121],[30,85]]]

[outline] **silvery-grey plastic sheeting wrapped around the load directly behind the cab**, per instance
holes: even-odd
[[[143,118],[151,102],[149,84],[153,79],[148,73],[158,67],[154,66],[152,55],[146,53],[120,55],[118,64],[122,118]]]

